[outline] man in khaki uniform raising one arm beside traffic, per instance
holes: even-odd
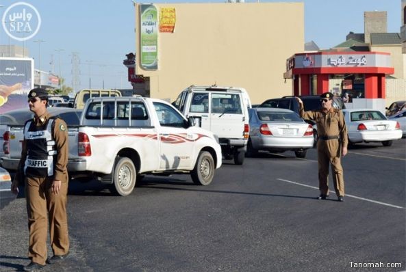
[[[320,96],[322,109],[318,111],[304,111],[303,101],[296,98],[299,103],[301,118],[314,120],[317,124],[318,142],[318,184],[320,189],[319,200],[329,197],[329,165],[333,172],[333,183],[338,201],[344,201],[344,178],[341,166],[341,155],[347,154],[348,137],[344,115],[340,109],[332,106],[333,94],[325,92]]]

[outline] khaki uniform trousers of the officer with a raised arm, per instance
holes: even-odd
[[[318,188],[320,194],[329,195],[329,165],[333,172],[333,184],[337,196],[344,196],[344,176],[341,166],[341,145],[338,139],[317,141]]]

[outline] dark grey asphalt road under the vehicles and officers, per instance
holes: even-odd
[[[334,193],[314,199],[316,159],[309,150],[306,159],[225,161],[207,187],[186,175],[151,176],[125,198],[72,182],[71,256],[45,271],[405,271],[406,139],[349,150],[343,203]],[[29,262],[25,200],[0,219],[0,271],[16,271]]]

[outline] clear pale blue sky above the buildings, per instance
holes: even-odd
[[[103,88],[103,85],[105,89],[131,89],[131,84],[127,81],[127,68],[123,66],[125,55],[134,52],[136,44],[135,13],[131,0],[22,1],[38,10],[41,17],[40,29],[35,36],[22,42],[10,38],[3,27],[0,27],[0,44],[25,46],[29,56],[35,59],[35,68],[39,68],[37,60],[41,59],[40,70],[62,74],[68,86],[73,85],[72,55],[77,54],[80,62],[79,90],[90,85],[92,89]],[[18,1],[0,0],[0,18],[5,10],[16,2]],[[205,1],[168,0],[145,3],[203,2]],[[398,33],[401,28],[401,0],[261,2],[303,2],[305,42],[313,40],[320,49],[329,49],[344,42],[350,31],[364,33],[364,11],[386,11],[388,32]],[[236,4],[243,5],[234,3]],[[270,23],[283,25],[283,22],[272,22],[272,18]],[[38,40],[43,42],[34,42]]]

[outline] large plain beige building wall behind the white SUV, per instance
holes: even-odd
[[[253,104],[292,94],[283,72],[286,59],[304,49],[303,3],[155,6],[158,13],[175,8],[176,25],[174,33],[158,33],[158,70],[142,70],[137,57],[136,73],[150,77],[151,97],[173,101],[192,84],[244,87]],[[139,52],[138,38],[136,44]]]

